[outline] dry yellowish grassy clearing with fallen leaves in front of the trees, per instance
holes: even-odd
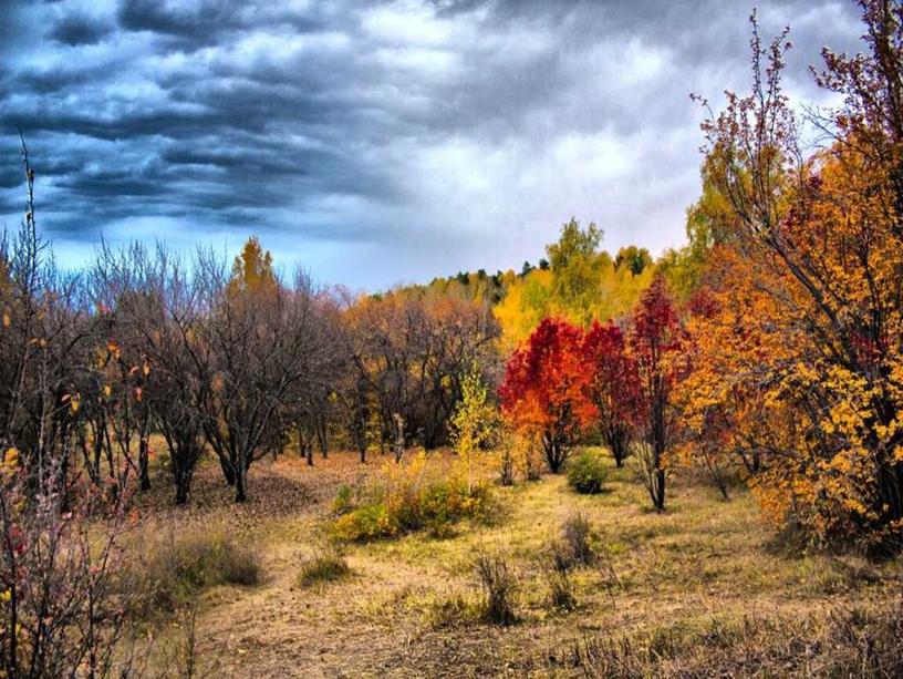
[[[159,480],[144,500],[141,531],[216,526],[260,558],[258,584],[218,585],[201,595],[201,670],[227,677],[831,676],[853,666],[868,673],[869,655],[889,644],[893,625],[903,634],[903,616],[891,615],[903,591],[900,562],[805,554],[762,527],[748,492],[735,488],[724,502],[689,479],[675,479],[667,512],[655,514],[632,472],[613,465],[603,494],[578,495],[552,475],[498,487],[501,511],[489,525],[460,524],[444,539],[424,533],[351,545],[350,573],[303,582],[305,560],[325,549],[323,527],[338,488],[364,484],[381,462],[374,456],[363,466],[350,453],[318,457],[313,469],[292,455],[261,462],[242,506],[229,503],[212,466],[199,472],[187,511],[167,506],[169,488]],[[447,464],[447,456],[432,454],[429,464]],[[571,574],[568,610],[550,601],[549,549],[577,513],[592,524],[599,558]],[[492,625],[477,615],[478,554],[502,556],[516,574],[516,623]],[[163,640],[178,637],[184,624],[165,621]]]

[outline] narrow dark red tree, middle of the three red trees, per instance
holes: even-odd
[[[593,322],[583,338],[583,353],[590,370],[587,394],[595,407],[595,422],[615,464],[622,466],[642,407],[636,363],[626,352],[621,329],[611,321],[604,326]]]

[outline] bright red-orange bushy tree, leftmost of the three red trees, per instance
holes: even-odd
[[[564,465],[592,413],[582,332],[561,319],[544,319],[508,361],[499,390],[502,410],[517,429],[536,435],[552,473]]]

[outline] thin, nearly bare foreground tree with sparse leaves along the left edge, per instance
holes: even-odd
[[[22,161],[25,219],[0,248],[0,350],[9,359],[0,375],[0,675],[126,676],[117,648],[128,625],[113,572],[128,477],[107,492],[70,479],[73,432],[92,398],[73,388],[90,372],[83,358],[95,319],[77,277],[55,271],[37,235],[24,141]]]

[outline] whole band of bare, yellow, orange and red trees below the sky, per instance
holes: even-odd
[[[23,658],[112,662],[96,625],[108,635],[122,611],[66,618],[60,593],[96,591],[113,542],[98,549],[79,518],[126,521],[154,454],[184,504],[206,455],[241,502],[255,462],[290,446],[310,464],[331,445],[362,463],[496,446],[510,482],[512,451],[559,472],[602,441],[634,461],[658,511],[668,476],[695,466],[726,498],[739,475],[766,521],[810,542],[899,552],[903,8],[860,4],[866,52],[824,50],[814,71],[841,102],[809,115],[818,147],[781,88],[787,35],[762,42],[754,17],[751,92],[719,113],[696,97],[702,195],[688,244],[658,259],[612,256],[601,229],[571,219],[534,267],[360,297],[278,275],[256,238],[235,260],[102,246],[64,271],[38,234],[23,142],[27,213],[0,245],[9,676]],[[87,627],[53,645],[44,619]]]

